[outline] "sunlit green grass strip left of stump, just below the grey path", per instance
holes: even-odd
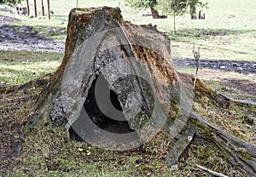
[[[56,71],[63,54],[0,51],[0,81],[7,86],[27,83]]]

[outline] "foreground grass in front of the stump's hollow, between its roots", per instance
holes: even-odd
[[[182,157],[178,169],[166,165],[166,149],[173,140],[168,135],[157,135],[145,147],[145,153],[137,150],[107,151],[88,145],[85,142],[65,140],[65,129],[44,128],[26,136],[20,166],[12,175],[36,176],[198,176],[205,174],[197,171],[195,164],[213,166],[224,174],[240,174],[223,157],[221,151],[207,145],[193,145],[189,158]],[[50,138],[49,138],[50,137]],[[83,151],[78,151],[82,148]],[[90,153],[88,153],[90,152]],[[147,163],[137,164],[144,158]],[[102,160],[106,159],[106,160]],[[110,159],[110,160],[108,160]],[[93,161],[92,161],[93,160]],[[203,163],[201,163],[203,162]],[[216,163],[218,165],[216,165]],[[55,165],[54,165],[55,164]],[[230,170],[232,169],[232,170]]]

